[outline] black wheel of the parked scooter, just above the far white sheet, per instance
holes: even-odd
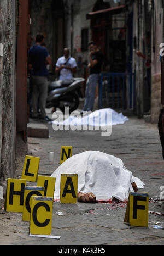
[[[69,107],[69,113],[76,110],[79,107],[78,95],[75,93],[71,94],[70,100],[67,99],[67,101],[63,101],[63,99],[61,99],[59,108],[64,114],[65,114],[65,107]]]

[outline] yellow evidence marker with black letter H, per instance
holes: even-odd
[[[26,180],[8,179],[5,198],[5,210],[7,212],[23,212],[25,186]]]

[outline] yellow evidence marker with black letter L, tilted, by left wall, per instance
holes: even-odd
[[[31,157],[26,155],[21,178],[26,179],[27,181],[36,182],[39,170],[39,162],[39,157]]]

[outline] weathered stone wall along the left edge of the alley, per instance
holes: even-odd
[[[0,185],[15,172],[16,0],[0,1]]]

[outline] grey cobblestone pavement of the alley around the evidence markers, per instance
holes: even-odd
[[[164,230],[154,229],[156,223],[164,226],[164,201],[160,199],[164,162],[157,125],[131,117],[125,124],[113,126],[109,137],[102,137],[100,131],[54,131],[51,124],[46,125],[48,139],[28,138],[32,155],[40,157],[39,174],[49,176],[60,165],[63,145],[73,146],[73,154],[87,150],[113,154],[145,183],[144,190],[139,191],[149,193],[149,226],[124,224],[126,203],[61,205],[54,202],[51,234],[61,236],[60,240],[30,237],[29,222],[22,221],[21,213],[1,209],[0,244],[163,244]],[[50,151],[55,152],[54,163],[48,162]],[[17,170],[18,177],[21,171],[21,168]]]

